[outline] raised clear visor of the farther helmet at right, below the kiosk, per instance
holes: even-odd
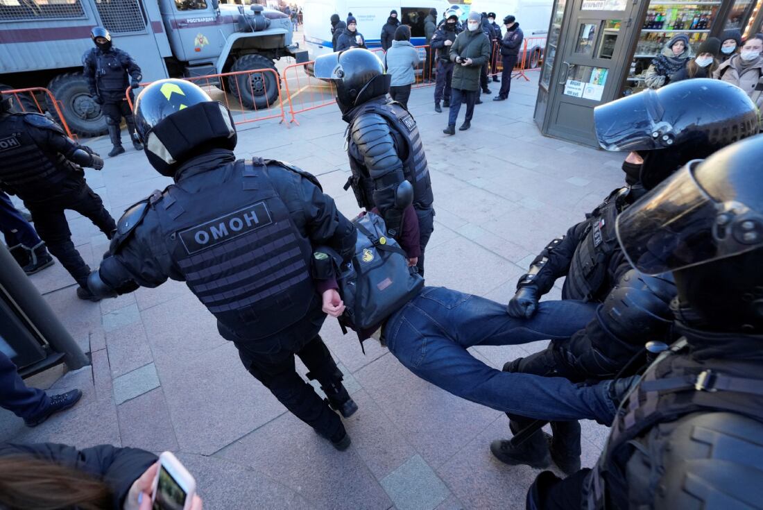
[[[662,127],[664,111],[652,89],[594,108],[594,127],[604,150],[663,149],[652,134]]]

